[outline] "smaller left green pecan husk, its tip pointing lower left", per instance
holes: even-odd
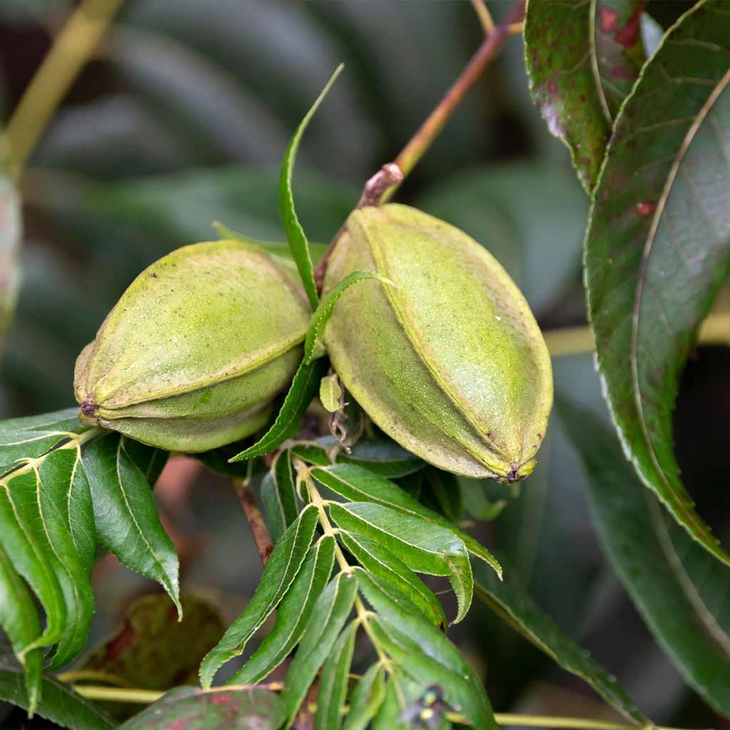
[[[80,416],[172,451],[204,451],[264,426],[301,360],[311,315],[263,250],[185,246],[145,269],[80,354]]]

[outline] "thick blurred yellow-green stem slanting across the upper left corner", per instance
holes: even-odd
[[[82,0],[43,59],[4,137],[10,171],[18,177],[48,120],[91,57],[123,0]]]

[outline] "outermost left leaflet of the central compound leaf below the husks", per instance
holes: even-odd
[[[215,673],[226,661],[243,653],[248,640],[261,628],[261,624],[289,590],[307,556],[317,518],[317,508],[310,504],[277,542],[253,598],[223,634],[218,645],[203,659],[200,681],[204,688],[210,687]]]

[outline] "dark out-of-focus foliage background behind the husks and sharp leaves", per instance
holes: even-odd
[[[655,0],[651,11],[666,27],[687,5]],[[5,120],[72,6],[0,4]],[[511,6],[490,7],[499,19]],[[72,404],[77,353],[120,293],[161,255],[215,238],[212,221],[283,239],[280,158],[340,61],[345,73],[304,137],[294,180],[300,218],[318,242],[331,239],[364,180],[395,157],[482,37],[469,2],[457,0],[129,0],[20,181],[23,286],[0,367],[0,417]],[[483,242],[543,328],[582,324],[588,199],[568,153],[531,106],[521,54],[520,39],[510,39],[399,200]],[[718,485],[730,466],[723,448],[730,392],[718,375],[728,358],[721,348],[701,351],[677,407],[680,462],[706,515],[721,515],[718,499],[726,499]],[[607,418],[590,354],[558,358],[554,367],[558,393]],[[507,499],[499,518],[480,526],[480,537],[650,717],[730,727],[688,690],[613,576],[588,521],[582,480],[554,422],[538,469],[519,493],[469,483],[465,502],[478,512],[485,495]],[[175,459],[157,493],[185,590],[217,605],[230,622],[260,576],[233,491],[197,462]],[[727,539],[730,520],[716,519],[713,528]],[[110,558],[101,560],[93,637],[101,639],[132,599],[152,590]],[[613,717],[485,608],[472,610],[455,636],[496,710]],[[147,671],[153,668],[139,670],[138,685]]]

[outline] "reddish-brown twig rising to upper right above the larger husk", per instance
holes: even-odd
[[[410,139],[410,142],[401,150],[401,153],[395,159],[395,163],[403,171],[404,177],[418,164],[418,161],[423,157],[426,150],[431,147],[431,143],[434,142],[454,110],[461,104],[466,93],[472,88],[484,69],[491,64],[499,51],[502,50],[502,46],[510,37],[510,26],[514,23],[520,23],[524,15],[525,0],[518,0],[518,3],[510,11],[510,15],[507,16],[507,20],[496,26],[488,35],[480,45],[477,53],[472,57],[472,60],[466,65],[464,71],[461,72],[458,79],[453,82],[451,88],[445,93],[444,98],[431,112],[429,118],[423,122],[420,129]],[[390,199],[397,189],[398,185],[388,188],[381,202]]]

